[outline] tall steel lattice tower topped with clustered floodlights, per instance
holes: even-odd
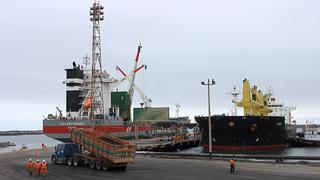
[[[100,38],[100,21],[104,19],[103,6],[94,1],[93,6],[90,8],[90,21],[92,21],[92,68],[91,68],[91,107],[89,118],[94,119],[95,110],[100,110],[105,117],[104,103],[103,103],[103,83],[102,83],[102,64],[101,64],[101,38]],[[98,69],[97,70],[97,63]],[[97,78],[100,79],[101,86],[97,88]],[[97,98],[101,98],[97,101]]]

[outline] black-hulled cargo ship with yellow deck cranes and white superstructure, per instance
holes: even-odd
[[[256,86],[250,87],[249,81],[243,81],[242,100],[237,101],[240,93],[234,88],[231,94],[235,104],[232,116],[211,116],[211,134],[213,151],[253,151],[271,150],[286,147],[288,131],[286,124],[291,123],[291,111],[294,106],[285,106],[276,102],[271,90],[263,94]],[[236,108],[244,109],[243,116],[237,116]],[[204,152],[209,150],[208,116],[196,116],[202,132]]]

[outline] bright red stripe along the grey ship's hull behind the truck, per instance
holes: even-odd
[[[44,133],[69,133],[72,128],[93,128],[92,126],[43,126]],[[104,133],[117,133],[117,132],[126,132],[128,126],[96,126],[95,129]],[[139,131],[147,131],[149,128],[147,127],[139,127]],[[134,128],[131,128],[131,131],[134,131]]]

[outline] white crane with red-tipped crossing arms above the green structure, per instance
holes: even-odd
[[[132,71],[132,73],[130,73],[129,75],[127,75],[119,66],[117,66],[117,70],[120,71],[120,73],[124,76],[124,79],[128,80],[130,83],[129,86],[129,95],[130,95],[130,99],[132,102],[132,97],[133,97],[133,93],[134,93],[134,89],[139,93],[144,106],[145,107],[151,107],[151,102],[152,100],[150,98],[148,98],[145,93],[134,83],[135,80],[135,74],[140,71],[142,68],[146,68],[145,65],[141,65],[139,67],[138,66],[138,61],[139,61],[139,56],[140,56],[140,51],[141,51],[141,43],[138,46],[138,51],[137,51],[137,55],[136,55],[136,59],[135,59],[135,64],[134,64],[134,69]]]

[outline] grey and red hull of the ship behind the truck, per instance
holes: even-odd
[[[135,127],[124,125],[119,119],[50,119],[43,120],[43,132],[46,136],[62,142],[70,142],[70,130],[94,128],[103,133],[112,134],[120,138],[134,137]],[[148,136],[151,127],[147,124],[137,126],[139,136]]]

